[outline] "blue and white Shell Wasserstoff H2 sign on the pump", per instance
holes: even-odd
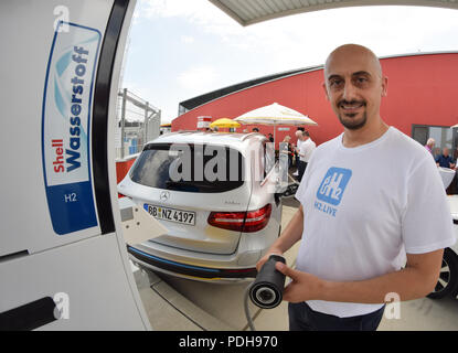
[[[67,31],[60,31],[66,25]],[[60,22],[51,47],[42,111],[42,156],[54,232],[98,226],[90,174],[90,121],[100,32]]]

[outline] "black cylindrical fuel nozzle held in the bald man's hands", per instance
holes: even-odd
[[[270,255],[249,289],[249,299],[263,309],[274,309],[283,300],[285,275],[275,269],[277,261],[286,264],[280,255]]]

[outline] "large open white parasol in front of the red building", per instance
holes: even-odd
[[[291,108],[285,107],[279,105],[278,103],[274,103],[269,106],[265,106],[262,108],[257,108],[241,115],[239,117],[234,119],[237,122],[251,125],[251,124],[258,124],[258,125],[273,125],[274,126],[274,141],[275,141],[275,132],[277,125],[315,125],[312,119],[303,114],[294,110]]]

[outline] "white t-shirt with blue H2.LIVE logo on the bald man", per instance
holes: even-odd
[[[315,150],[297,191],[305,215],[297,269],[326,280],[365,280],[400,270],[406,253],[455,244],[444,184],[423,146],[393,127],[356,148],[345,148],[342,137]],[[383,306],[307,303],[340,318]]]

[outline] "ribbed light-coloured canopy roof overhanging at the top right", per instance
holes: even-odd
[[[209,0],[242,25],[290,14],[363,6],[424,6],[458,9],[458,0]]]

